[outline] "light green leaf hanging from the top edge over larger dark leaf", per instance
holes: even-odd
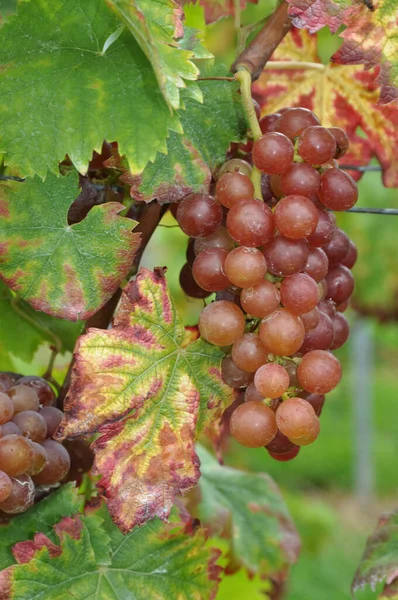
[[[191,42],[191,49],[183,48],[183,10],[175,0],[106,0],[118,17],[126,24],[142,51],[150,61],[159,87],[168,105],[180,106],[180,89],[195,81],[199,69],[195,58],[211,58],[204,48]],[[198,52],[193,50],[197,48]],[[192,84],[191,84],[192,86]],[[201,100],[197,86],[197,99]]]

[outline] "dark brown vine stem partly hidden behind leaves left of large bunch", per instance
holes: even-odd
[[[144,250],[147,247],[153,232],[158,226],[159,221],[165,214],[166,210],[167,205],[161,206],[156,201],[151,202],[150,204],[143,205],[140,215],[138,217],[138,225],[134,229],[134,233],[141,233],[141,242],[137,252],[135,253],[129,278],[133,277],[137,273]],[[132,217],[131,211],[129,211],[126,216]],[[90,327],[96,327],[97,329],[107,329],[112,321],[113,313],[116,310],[121,295],[122,288],[119,287],[115,291],[113,296],[108,300],[108,302],[104,304],[104,306],[100,308],[100,310],[96,312],[95,315],[93,315],[90,319],[87,320],[85,331],[87,331],[87,329],[89,329]],[[72,377],[73,363],[74,360],[72,359],[58,395],[57,407],[61,410],[63,409],[64,400],[69,390],[70,381]]]

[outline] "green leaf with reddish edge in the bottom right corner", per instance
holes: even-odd
[[[365,552],[354,576],[352,592],[365,586],[375,590],[385,582],[390,586],[398,578],[398,512],[380,518],[366,542]],[[390,588],[391,589],[391,588]],[[387,596],[388,598],[388,596]]]

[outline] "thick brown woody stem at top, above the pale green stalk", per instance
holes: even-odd
[[[258,79],[275,48],[279,46],[292,26],[288,13],[289,5],[284,1],[267,19],[247,48],[237,57],[231,66],[232,73],[236,73],[239,68],[243,67],[249,71],[252,81]]]

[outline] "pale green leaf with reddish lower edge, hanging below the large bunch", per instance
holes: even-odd
[[[283,497],[269,475],[221,466],[203,447],[197,514],[212,535],[229,539],[230,567],[274,581],[296,562],[300,539]]]

